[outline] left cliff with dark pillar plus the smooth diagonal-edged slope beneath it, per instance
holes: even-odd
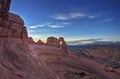
[[[9,3],[0,0],[0,79],[56,79],[31,56],[24,22],[8,13]]]

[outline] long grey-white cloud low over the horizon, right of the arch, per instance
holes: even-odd
[[[73,41],[66,41],[69,45],[79,45],[79,44],[90,44],[96,41],[101,41],[104,38],[96,38],[96,39],[83,39],[83,40],[73,40]]]

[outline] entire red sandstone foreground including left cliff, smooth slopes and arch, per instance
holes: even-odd
[[[75,56],[63,37],[35,43],[22,18],[8,12],[10,1],[0,0],[0,79],[119,79],[111,67]]]

